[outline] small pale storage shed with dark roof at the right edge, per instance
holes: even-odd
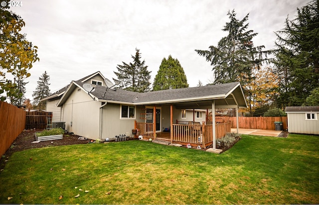
[[[289,106],[288,132],[319,135],[319,106]]]

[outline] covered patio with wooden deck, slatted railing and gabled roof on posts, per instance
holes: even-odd
[[[177,89],[176,89],[177,90]],[[178,99],[181,96],[175,93],[174,90],[169,92],[172,99],[159,100],[153,102],[145,102],[144,105],[153,106],[153,113],[157,112],[160,106],[170,107],[170,121],[169,130],[167,132],[154,132],[157,130],[156,122],[161,120],[153,114],[152,122],[135,121],[134,128],[137,130],[137,136],[142,135],[143,138],[161,139],[170,141],[170,143],[191,144],[192,146],[200,145],[203,148],[212,146],[216,149],[216,139],[225,136],[227,132],[231,132],[230,122],[216,123],[215,109],[216,108],[235,108],[237,117],[237,133],[238,133],[238,108],[246,108],[247,103],[243,94],[242,88],[239,83],[229,83],[222,85],[204,86],[197,88],[186,88],[183,93],[184,98]],[[186,96],[186,98],[185,98]],[[163,98],[164,99],[164,98]],[[146,104],[147,103],[147,104]],[[142,105],[142,104],[141,104]],[[202,123],[193,121],[181,121],[175,119],[174,110],[183,109],[202,109],[211,110],[212,120],[202,121]],[[214,126],[213,126],[214,125]]]

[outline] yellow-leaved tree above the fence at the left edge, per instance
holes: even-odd
[[[4,0],[3,2],[8,2]],[[3,4],[2,4],[3,5]],[[6,3],[8,5],[8,3]],[[25,39],[21,28],[25,26],[23,19],[8,10],[9,7],[0,7],[0,100],[6,98],[21,98],[22,94],[15,82],[9,80],[6,74],[11,74],[16,80],[30,76],[28,70],[32,63],[39,60],[37,47]],[[3,95],[6,93],[6,96]]]

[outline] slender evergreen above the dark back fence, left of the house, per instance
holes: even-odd
[[[32,94],[33,104],[37,109],[45,109],[45,102],[40,102],[40,100],[50,95],[49,80],[50,76],[44,71],[42,76],[39,77],[39,81],[37,81],[38,85]]]

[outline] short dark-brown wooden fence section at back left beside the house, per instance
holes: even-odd
[[[52,112],[29,111],[26,112],[25,129],[45,129],[47,124],[52,124]]]

